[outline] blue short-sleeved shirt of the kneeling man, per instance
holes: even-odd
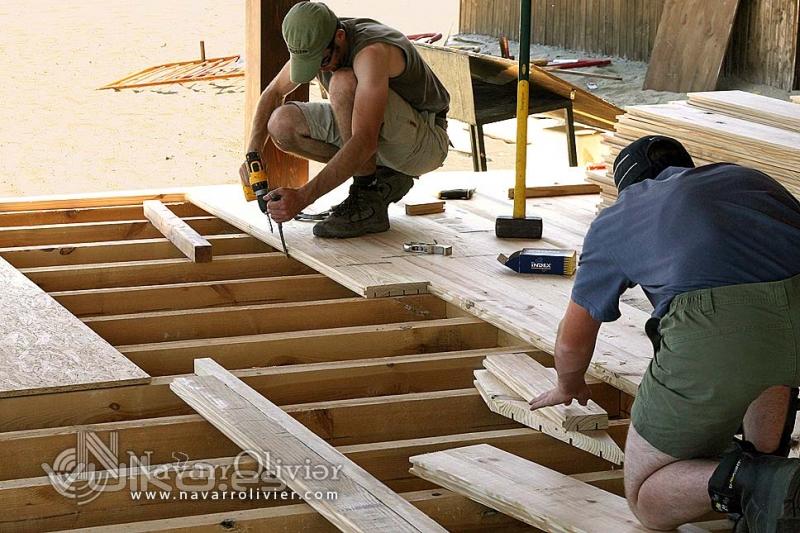
[[[684,292],[798,273],[800,203],[777,181],[729,163],[670,167],[594,220],[572,300],[612,322],[620,295],[641,285],[660,318]]]

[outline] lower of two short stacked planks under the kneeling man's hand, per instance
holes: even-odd
[[[565,431],[560,424],[539,413],[531,411],[528,402],[498,380],[488,370],[475,371],[475,388],[489,409],[515,422],[541,431],[551,437],[621,465],[625,456],[619,445],[603,430]]]

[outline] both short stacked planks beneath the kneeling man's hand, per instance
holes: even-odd
[[[589,400],[586,406],[573,402],[569,406],[530,410],[530,400],[556,386],[555,370],[524,353],[489,355],[483,366],[486,370],[475,371],[474,384],[489,410],[622,464],[622,450],[604,431],[608,428],[608,413],[594,401]]]

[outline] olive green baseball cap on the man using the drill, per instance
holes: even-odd
[[[289,48],[293,83],[306,83],[317,75],[338,22],[339,18],[322,2],[300,2],[286,14],[283,40]]]

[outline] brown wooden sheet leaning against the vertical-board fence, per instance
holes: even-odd
[[[644,89],[713,91],[739,0],[666,0]]]

